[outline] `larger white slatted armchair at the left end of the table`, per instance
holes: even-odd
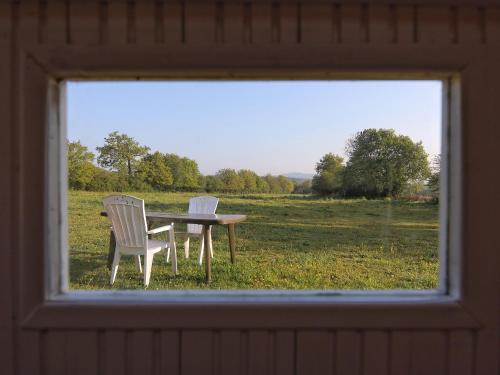
[[[111,221],[116,238],[115,255],[111,267],[111,284],[115,282],[118,263],[122,255],[133,255],[141,272],[141,258],[144,257],[144,286],[147,287],[151,277],[154,254],[165,250],[168,262],[172,250],[172,270],[177,273],[177,253],[175,249],[174,225],[165,225],[148,230],[144,201],[127,195],[112,195],[103,199],[104,209]],[[168,241],[148,239],[149,235],[167,232]]]

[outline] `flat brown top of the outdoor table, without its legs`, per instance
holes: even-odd
[[[108,216],[106,211],[101,211],[101,216]],[[146,218],[153,222],[189,223],[189,224],[236,224],[247,219],[246,215],[220,215],[220,214],[189,214],[161,211],[146,211]]]

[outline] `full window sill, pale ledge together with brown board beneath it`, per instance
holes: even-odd
[[[459,301],[437,292],[303,296],[299,292],[293,298],[283,292],[237,293],[72,292],[39,305],[22,325],[35,329],[479,327]]]

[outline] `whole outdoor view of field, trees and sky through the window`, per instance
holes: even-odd
[[[70,289],[436,289],[442,90],[68,82]]]

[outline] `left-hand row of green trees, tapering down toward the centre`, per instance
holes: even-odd
[[[68,141],[68,184],[89,191],[206,191],[288,194],[295,185],[285,176],[259,176],[225,168],[203,176],[195,160],[176,154],[150,152],[135,139],[110,133],[96,155],[80,141]]]

